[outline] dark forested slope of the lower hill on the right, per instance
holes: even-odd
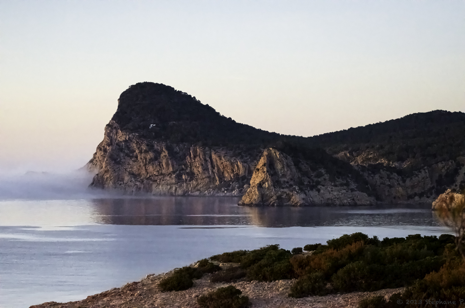
[[[435,110],[310,138],[331,153],[376,151],[391,162],[423,168],[465,154],[465,113]]]

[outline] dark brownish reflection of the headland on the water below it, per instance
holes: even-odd
[[[238,198],[94,199],[96,219],[127,225],[438,226],[428,204],[351,207],[240,207]]]

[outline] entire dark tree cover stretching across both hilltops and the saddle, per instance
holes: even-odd
[[[392,162],[414,160],[417,167],[465,154],[463,112],[414,113],[382,123],[303,138],[237,123],[185,92],[153,82],[137,83],[122,92],[112,120],[124,131],[154,140],[263,147],[285,141],[324,148],[331,153],[374,150]]]

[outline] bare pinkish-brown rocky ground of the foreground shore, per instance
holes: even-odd
[[[222,268],[233,263],[219,263]],[[161,292],[158,283],[171,272],[160,275],[147,275],[139,282],[130,282],[121,288],[87,296],[82,301],[66,303],[45,302],[30,308],[200,308],[197,298],[219,287],[233,285],[249,297],[252,308],[356,308],[359,301],[367,296],[384,295],[388,299],[392,294],[401,292],[403,288],[383,289],[375,292],[352,292],[325,296],[309,296],[304,298],[288,297],[289,288],[294,282],[279,280],[274,282],[258,282],[239,280],[234,283],[211,283],[211,274],[194,280],[194,286],[184,291]]]

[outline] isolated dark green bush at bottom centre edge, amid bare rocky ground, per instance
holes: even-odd
[[[197,303],[204,308],[246,308],[249,305],[249,298],[240,296],[241,294],[241,290],[227,286],[200,296]]]

